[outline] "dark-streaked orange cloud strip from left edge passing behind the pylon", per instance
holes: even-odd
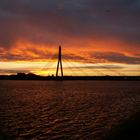
[[[0,53],[0,60],[5,60],[5,61],[16,61],[16,60],[36,61],[36,60],[43,60],[43,59],[54,60],[57,58],[58,58],[57,53],[39,51],[35,49],[27,49],[26,51],[23,51],[20,54],[14,54],[11,53],[10,51],[4,54]],[[63,54],[62,59],[63,61],[79,61],[79,62],[89,61],[88,58],[85,58],[84,56],[78,56],[76,54]]]

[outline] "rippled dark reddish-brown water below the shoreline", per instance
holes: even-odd
[[[140,110],[139,85],[0,81],[0,140],[103,140]]]

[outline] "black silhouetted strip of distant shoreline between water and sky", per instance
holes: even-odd
[[[140,81],[140,76],[40,76],[32,73],[17,75],[0,75],[0,80],[99,80],[99,81]]]

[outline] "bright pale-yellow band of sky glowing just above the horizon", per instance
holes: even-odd
[[[65,76],[105,76],[105,75],[134,75],[139,76],[140,65],[82,63],[63,61]],[[0,62],[0,75],[16,73],[34,73],[42,76],[56,74],[57,61],[53,62]]]

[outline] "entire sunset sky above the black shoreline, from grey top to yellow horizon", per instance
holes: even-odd
[[[0,75],[140,75],[140,0],[0,0]]]

